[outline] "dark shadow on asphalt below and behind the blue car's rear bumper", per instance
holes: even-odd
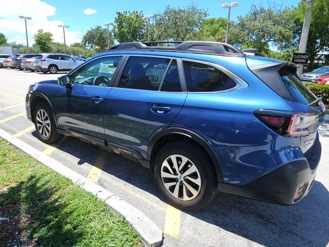
[[[218,193],[193,217],[264,246],[327,246],[329,193],[315,181],[300,202],[276,205]]]

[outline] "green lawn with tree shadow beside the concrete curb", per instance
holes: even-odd
[[[142,245],[125,219],[92,193],[1,138],[0,217],[12,219],[0,221],[0,246],[14,241],[15,232],[21,246]]]

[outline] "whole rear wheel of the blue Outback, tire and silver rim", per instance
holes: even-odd
[[[208,155],[193,143],[173,142],[155,158],[156,183],[170,204],[197,210],[216,195],[215,170]]]

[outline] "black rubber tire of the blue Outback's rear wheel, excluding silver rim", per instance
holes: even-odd
[[[185,156],[188,158],[188,160],[192,163],[186,163],[188,165],[184,165],[181,168],[181,172],[184,173],[186,170],[189,169],[191,166],[195,166],[197,168],[198,174],[191,173],[191,174],[196,174],[197,177],[200,178],[200,186],[194,184],[193,182],[190,182],[188,180],[188,176],[182,177],[179,172],[178,176],[180,175],[179,181],[181,185],[184,187],[187,186],[186,183],[188,183],[190,186],[196,186],[194,188],[198,189],[197,196],[195,196],[191,200],[182,200],[179,198],[176,198],[172,195],[171,192],[167,190],[167,188],[164,185],[164,182],[162,181],[161,177],[161,168],[162,168],[162,163],[165,162],[166,160],[169,161],[168,164],[170,163],[170,156],[171,155],[181,155]],[[177,141],[170,143],[163,147],[157,154],[155,161],[154,161],[154,177],[156,184],[158,188],[160,189],[161,193],[165,198],[168,200],[169,204],[177,207],[177,208],[182,208],[182,209],[187,209],[187,210],[198,210],[204,206],[206,206],[216,195],[217,192],[217,179],[216,179],[216,173],[215,169],[213,167],[213,164],[209,158],[209,156],[205,153],[204,150],[200,149],[200,147],[196,146],[195,144],[188,142],[188,141]],[[179,164],[179,162],[177,162]],[[192,164],[192,165],[191,165]],[[186,167],[184,169],[184,167]],[[164,168],[166,169],[166,168]],[[184,171],[185,170],[185,171]],[[168,170],[169,171],[169,170]],[[174,172],[174,169],[172,168],[172,171]],[[175,172],[174,172],[175,173]],[[175,174],[175,175],[176,175]],[[198,176],[199,175],[199,176]],[[168,178],[165,178],[168,179]],[[181,179],[181,180],[180,180]],[[170,178],[167,183],[170,183],[170,181],[175,182],[178,181],[178,179],[173,179]],[[192,183],[192,184],[191,184]],[[177,184],[177,182],[176,182]],[[176,186],[176,185],[172,185]],[[172,188],[172,186],[170,188]],[[181,188],[180,191],[184,189],[184,187],[179,187]],[[186,187],[187,188],[187,187]],[[189,190],[186,193],[191,192]],[[180,193],[180,195],[182,195]],[[182,196],[181,196],[182,197]]]

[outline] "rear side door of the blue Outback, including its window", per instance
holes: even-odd
[[[105,139],[146,154],[150,136],[172,123],[187,97],[181,60],[131,56],[107,95]]]

